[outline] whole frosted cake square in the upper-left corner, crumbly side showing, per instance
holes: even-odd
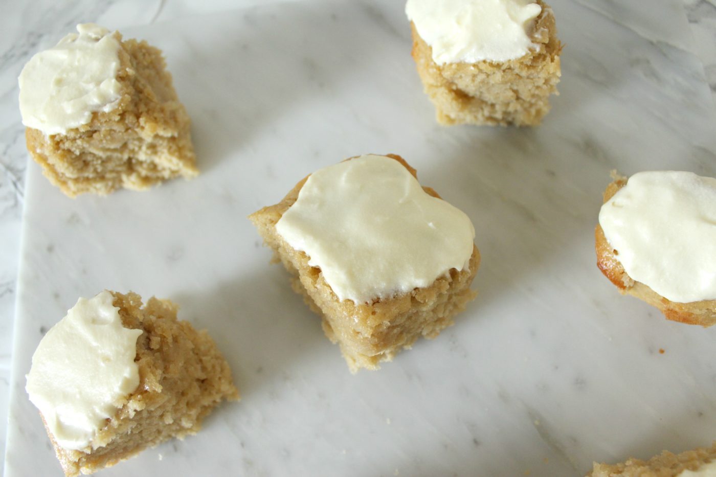
[[[19,77],[27,150],[44,175],[72,197],[197,175],[162,52],[94,24],[77,31]]]

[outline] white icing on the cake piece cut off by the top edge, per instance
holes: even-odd
[[[405,13],[437,64],[504,62],[533,47],[533,0],[407,0]]]

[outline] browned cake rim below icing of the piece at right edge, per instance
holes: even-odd
[[[616,172],[612,172],[614,179],[604,191],[604,203],[614,196],[622,187],[627,185],[627,178]],[[716,299],[702,300],[700,302],[678,303],[671,302],[662,297],[656,291],[640,281],[632,279],[624,266],[619,262],[619,251],[614,250],[604,236],[599,224],[594,231],[596,242],[596,265],[601,273],[616,285],[621,294],[629,294],[632,297],[644,300],[648,304],[657,307],[667,319],[674,322],[687,324],[700,324],[702,327],[710,327],[716,324]]]

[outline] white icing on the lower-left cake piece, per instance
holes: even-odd
[[[57,444],[86,448],[117,403],[139,385],[137,337],[122,327],[114,297],[80,298],[42,338],[25,387]]]

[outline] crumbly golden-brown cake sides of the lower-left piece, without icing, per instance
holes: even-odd
[[[117,403],[117,414],[86,449],[62,448],[47,431],[68,477],[95,473],[170,438],[195,434],[222,400],[239,399],[216,344],[205,331],[178,321],[177,305],[153,297],[142,308],[141,297],[131,291],[112,295],[122,326],[143,331],[135,357],[140,382]]]

